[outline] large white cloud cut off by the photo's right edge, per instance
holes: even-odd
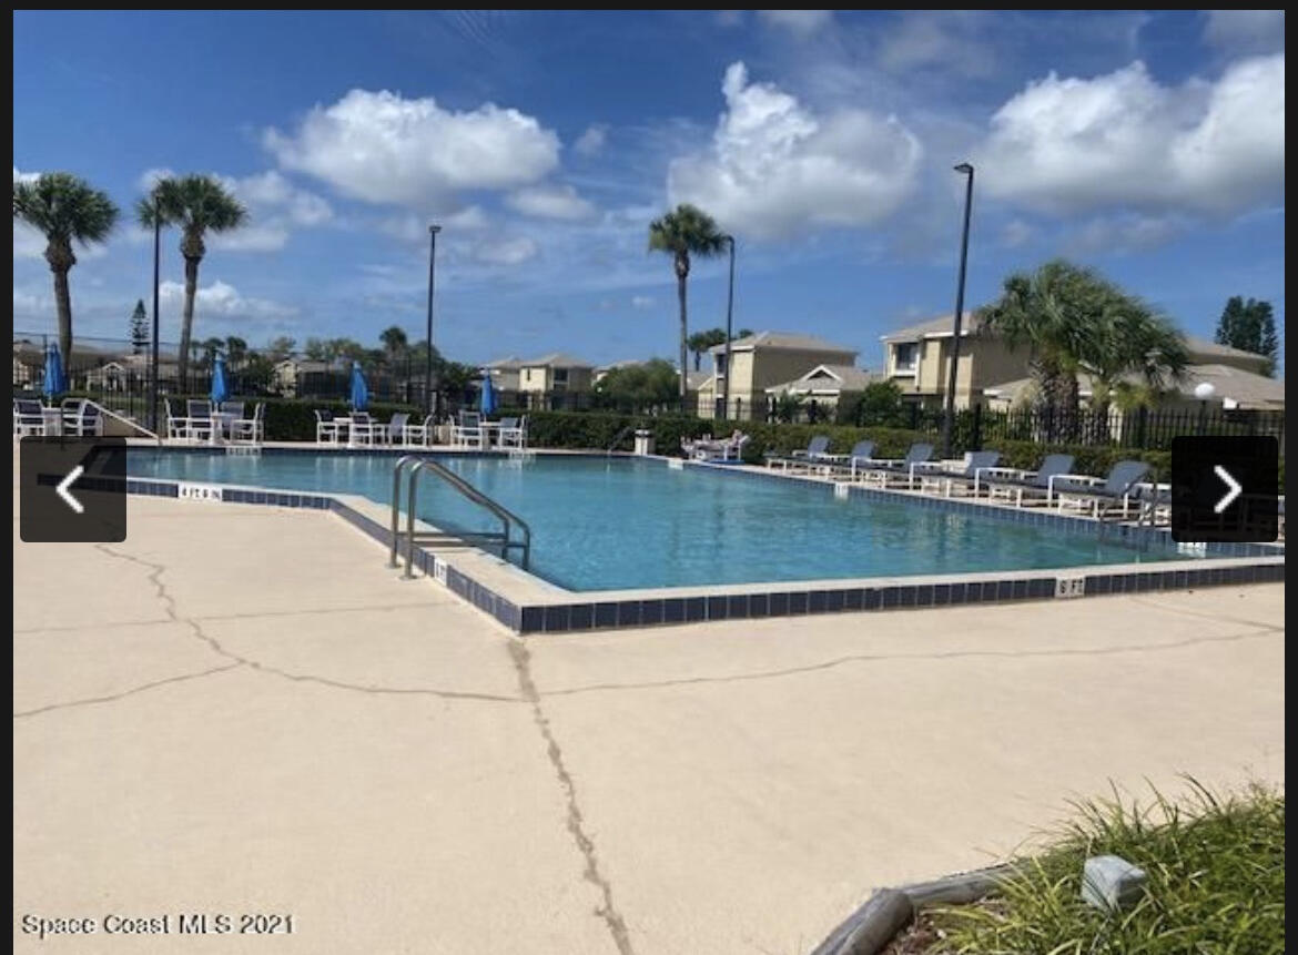
[[[1046,212],[1238,213],[1282,197],[1284,83],[1282,53],[1180,87],[1138,61],[1094,79],[1051,73],[992,117],[974,163],[988,195]]]

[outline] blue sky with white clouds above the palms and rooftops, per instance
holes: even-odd
[[[209,241],[195,333],[423,336],[484,362],[674,356],[678,201],[737,236],[736,328],[861,349],[1053,256],[1211,336],[1232,295],[1284,320],[1284,14],[16,13],[14,175],[67,170],[127,212],[71,274],[77,332],[152,296],[129,210],[158,171],[252,213]],[[164,245],[162,337],[183,263]],[[55,326],[14,227],[14,328]],[[700,262],[691,328],[724,323]]]

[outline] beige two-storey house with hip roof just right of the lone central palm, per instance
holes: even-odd
[[[766,331],[736,339],[729,345],[731,367],[726,367],[726,345],[709,349],[713,372],[698,387],[698,415],[714,418],[716,402],[729,376],[729,415],[749,418],[754,405],[765,411],[766,389],[789,383],[826,365],[851,367],[857,349],[835,345],[811,335]]]

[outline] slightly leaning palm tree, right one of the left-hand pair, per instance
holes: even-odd
[[[180,324],[179,384],[186,385],[190,337],[193,333],[193,301],[199,293],[199,263],[208,252],[208,231],[227,232],[248,221],[248,210],[225,186],[209,175],[183,175],[160,179],[148,199],[135,208],[140,224],[153,228],[154,214],[164,226],[180,227],[180,254],[184,256],[184,320]]]

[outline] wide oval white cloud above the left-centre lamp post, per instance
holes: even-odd
[[[558,166],[559,139],[530,115],[492,103],[452,112],[431,96],[352,90],[315,106],[297,130],[267,130],[286,169],[309,173],[369,202],[436,209],[463,189],[510,189]]]

